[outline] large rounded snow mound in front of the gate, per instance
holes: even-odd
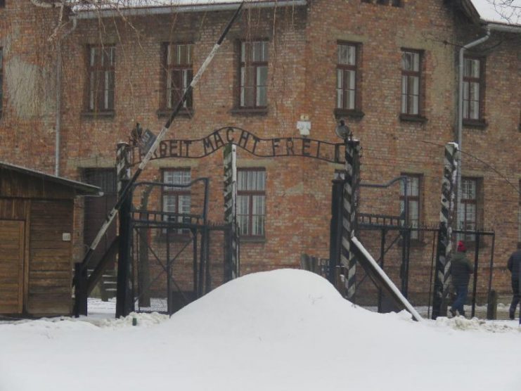
[[[390,317],[403,321],[404,316],[411,319],[408,313]],[[378,314],[352,305],[317,274],[278,269],[230,281],[181,309],[162,327],[280,340],[308,338],[321,329],[355,331],[375,317]]]

